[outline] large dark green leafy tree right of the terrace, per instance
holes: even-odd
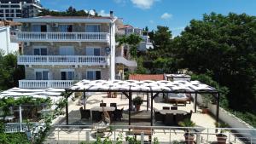
[[[191,20],[173,40],[180,67],[212,72],[212,79],[230,89],[230,107],[255,109],[256,18],[247,14],[204,14]]]

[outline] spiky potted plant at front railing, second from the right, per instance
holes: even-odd
[[[185,118],[183,121],[178,122],[178,125],[182,127],[195,127],[195,123],[191,121],[189,118]],[[185,142],[186,144],[194,144],[195,135],[189,132],[189,129],[185,130]]]

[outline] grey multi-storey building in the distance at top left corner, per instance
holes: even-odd
[[[0,20],[34,17],[40,9],[39,0],[0,0]]]

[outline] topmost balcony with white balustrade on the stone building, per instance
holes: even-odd
[[[17,32],[21,42],[106,42],[108,32]]]

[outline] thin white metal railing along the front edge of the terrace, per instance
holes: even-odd
[[[99,129],[102,127],[99,126]],[[111,130],[110,130],[111,128]],[[101,136],[102,133],[96,130],[97,127],[92,125],[55,125],[53,127],[52,134],[54,137],[48,138],[45,143],[79,143],[81,141],[92,142],[96,141],[96,136]],[[121,141],[125,141],[125,137],[132,137],[135,134],[133,130],[148,130],[149,134],[137,133],[137,140],[149,141],[148,135],[151,137],[151,141],[157,138],[160,143],[179,143],[184,142],[185,131],[189,130],[191,135],[194,135],[194,140],[196,143],[216,143],[217,134],[220,130],[225,130],[224,135],[227,139],[221,140],[219,142],[223,143],[256,143],[256,129],[240,129],[240,128],[203,128],[203,127],[172,127],[172,126],[140,126],[140,125],[111,125],[109,128],[105,129],[104,136],[108,137],[111,141],[117,141],[120,135],[123,137]],[[241,133],[236,131],[240,130]],[[243,135],[243,136],[242,136]],[[104,138],[102,138],[103,140]],[[120,140],[120,139],[119,139]],[[191,140],[186,141],[186,143],[194,143]]]

